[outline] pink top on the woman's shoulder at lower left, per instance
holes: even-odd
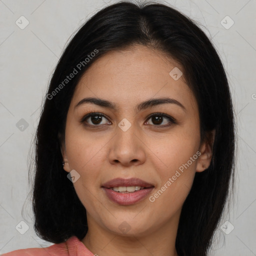
[[[76,237],[71,236],[65,242],[55,243],[45,248],[27,248],[13,250],[1,256],[94,256]],[[95,254],[97,255],[97,254]]]

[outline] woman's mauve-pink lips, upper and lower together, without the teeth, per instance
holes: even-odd
[[[143,186],[144,188],[134,192],[122,193],[110,189],[115,186]],[[139,178],[114,178],[104,183],[102,188],[111,201],[120,205],[130,205],[144,199],[152,191],[154,186]]]

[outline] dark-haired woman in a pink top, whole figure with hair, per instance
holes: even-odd
[[[71,39],[36,133],[34,229],[12,255],[205,256],[234,167],[222,63],[190,19],[119,2]]]

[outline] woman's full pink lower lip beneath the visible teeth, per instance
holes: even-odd
[[[153,189],[153,187],[148,187],[148,188],[143,188],[134,192],[129,192],[129,193],[121,193],[121,192],[116,192],[110,188],[102,187],[105,192],[107,197],[118,204],[121,205],[129,205],[129,204],[134,204],[143,198],[145,198]]]

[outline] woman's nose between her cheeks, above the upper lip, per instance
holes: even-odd
[[[109,141],[109,162],[123,166],[142,164],[146,157],[143,131],[133,124],[127,130],[120,127],[116,126],[116,134]]]

